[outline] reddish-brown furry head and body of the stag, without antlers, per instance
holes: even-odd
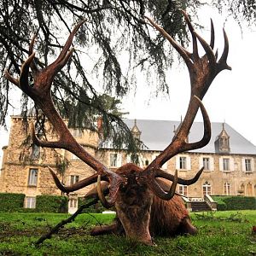
[[[96,227],[91,235],[115,234],[136,238],[138,241],[152,245],[152,236],[176,236],[196,234],[191,224],[189,212],[180,196],[174,195],[170,201],[161,200],[148,189],[147,183],[137,183],[138,166],[127,164],[120,167],[117,173],[127,178],[127,184],[119,188],[115,208],[117,217],[113,224]],[[169,188],[158,179],[162,188]],[[103,189],[107,189],[106,184]],[[96,194],[96,189],[88,195]]]

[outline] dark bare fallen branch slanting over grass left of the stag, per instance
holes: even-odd
[[[44,240],[46,239],[49,239],[51,238],[51,236],[53,234],[57,234],[59,232],[59,230],[65,225],[65,224],[68,224],[68,223],[71,223],[73,222],[73,220],[80,214],[83,212],[83,210],[85,208],[89,208],[90,206],[96,204],[98,200],[95,199],[93,201],[90,201],[89,203],[85,204],[85,205],[82,205],[81,207],[79,207],[79,209],[77,210],[77,212],[74,212],[72,216],[70,216],[69,218],[67,219],[63,219],[61,220],[60,223],[56,224],[54,228],[52,228],[51,230],[49,230],[49,232],[43,236],[41,236],[38,241],[35,243],[35,246],[39,246],[41,243],[43,243]]]

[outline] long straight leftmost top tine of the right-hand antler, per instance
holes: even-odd
[[[190,54],[187,50],[183,49],[177,42],[160,26],[158,26],[156,23],[154,23],[153,20],[148,18],[148,16],[144,16],[152,26],[154,26],[161,34],[164,36],[171,44],[172,46],[177,50],[177,52],[182,56],[183,60],[185,61],[186,65],[188,67],[191,67],[192,62],[190,61]]]

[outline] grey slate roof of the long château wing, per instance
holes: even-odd
[[[134,119],[124,119],[126,125],[131,129]],[[162,151],[171,143],[174,136],[174,125],[177,129],[180,121],[171,120],[149,120],[137,119],[137,127],[141,134],[141,140],[148,147],[148,150]],[[192,150],[198,153],[216,153],[214,142],[223,129],[223,123],[212,122],[212,138],[204,148]],[[256,154],[256,146],[250,143],[245,137],[234,130],[230,125],[224,124],[224,129],[230,136],[230,154]],[[203,123],[195,122],[189,132],[189,143],[196,142],[203,136]]]

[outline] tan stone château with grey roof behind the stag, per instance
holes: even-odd
[[[147,147],[137,155],[142,167],[148,166],[171,143],[177,131],[175,127],[179,125],[177,121],[143,119],[125,119],[125,123]],[[28,127],[26,130],[22,125],[19,116],[12,117],[9,145],[3,147],[0,192],[23,193],[26,195],[25,207],[35,207],[36,195],[61,195],[61,191],[55,187],[48,166],[56,172],[58,170],[62,183],[67,185],[94,173],[89,166],[65,149],[26,146],[24,140],[29,129]],[[90,154],[110,169],[115,170],[131,161],[125,150],[117,151],[107,145],[98,148],[100,139],[96,133],[76,129],[72,133]],[[189,142],[198,141],[202,133],[203,124],[195,122],[187,139]],[[64,159],[68,160],[68,165]],[[203,195],[256,196],[255,162],[256,147],[252,143],[230,125],[212,123],[212,139],[206,147],[177,154],[162,168],[171,173],[177,169],[179,177],[188,179],[194,177],[204,166],[204,172],[197,183],[189,187],[177,185],[177,193],[195,200]],[[90,188],[80,189],[69,195],[70,212],[77,208],[78,197],[83,196]]]

